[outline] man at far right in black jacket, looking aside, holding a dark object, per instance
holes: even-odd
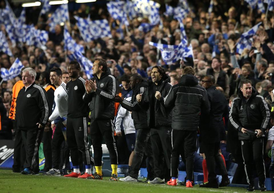
[[[256,165],[259,177],[259,187],[265,191],[265,166],[263,161],[263,137],[267,129],[270,112],[267,103],[251,86],[250,80],[240,83],[239,97],[231,105],[229,120],[238,131],[241,141],[245,174],[249,187],[254,191],[253,165]]]

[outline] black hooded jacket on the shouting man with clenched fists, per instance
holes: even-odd
[[[144,92],[139,105],[147,111],[147,122],[150,128],[157,129],[157,127],[162,126],[171,127],[171,111],[166,109],[164,104],[164,98],[171,87],[170,77],[164,76],[159,80],[157,85],[151,81],[148,89]],[[156,91],[161,93],[160,100],[155,97]]]

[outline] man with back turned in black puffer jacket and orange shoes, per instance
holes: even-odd
[[[196,151],[197,130],[200,113],[208,115],[210,106],[206,89],[198,85],[194,69],[187,66],[182,70],[183,76],[179,84],[174,85],[164,104],[172,108],[172,151],[171,176],[168,185],[178,183],[179,156],[184,150],[186,158],[186,187],[192,187],[194,152]]]

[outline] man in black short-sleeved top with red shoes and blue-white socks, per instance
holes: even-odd
[[[86,92],[85,80],[80,77],[80,64],[71,61],[68,65],[68,75],[71,80],[66,85],[68,92],[67,143],[73,172],[64,177],[87,178],[91,176],[94,162],[88,148],[88,103],[83,101]],[[86,171],[81,175],[79,170],[79,153],[82,152]]]

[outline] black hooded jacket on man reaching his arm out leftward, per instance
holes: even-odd
[[[122,107],[128,111],[132,111],[131,118],[133,119],[135,129],[148,129],[147,112],[143,110],[136,99],[136,95],[143,94],[148,88],[148,81],[142,80],[133,89],[131,101],[123,100],[121,102]]]

